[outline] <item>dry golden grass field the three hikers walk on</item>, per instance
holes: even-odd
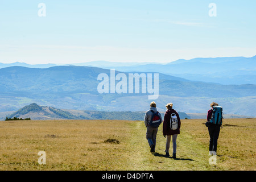
[[[184,119],[177,159],[164,157],[159,127],[151,154],[142,121],[1,121],[0,170],[255,170],[256,119],[224,119],[217,165],[209,164],[204,119]],[[39,151],[46,165],[38,164]],[[170,152],[172,151],[172,146]]]

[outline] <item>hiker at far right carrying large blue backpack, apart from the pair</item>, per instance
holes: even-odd
[[[216,155],[218,136],[220,135],[220,128],[222,126],[222,107],[219,106],[216,102],[210,104],[212,109],[208,110],[207,122],[205,125],[208,127],[210,135],[210,144],[209,144],[209,155]]]

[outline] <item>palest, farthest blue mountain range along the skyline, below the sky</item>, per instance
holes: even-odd
[[[216,57],[176,60],[168,64],[159,63],[121,63],[110,61],[90,61],[87,63],[66,64],[121,72],[159,72],[187,80],[214,82],[224,85],[256,84],[256,56],[254,57]],[[0,68],[22,66],[27,68],[49,68],[56,64],[0,63]]]

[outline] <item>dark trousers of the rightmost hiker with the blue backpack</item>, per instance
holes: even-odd
[[[218,135],[220,134],[220,126],[209,126],[210,135],[209,151],[217,152]]]

